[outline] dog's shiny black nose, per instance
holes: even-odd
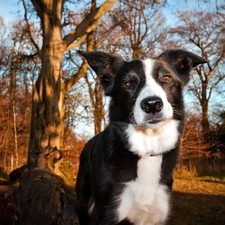
[[[163,107],[163,101],[161,98],[153,96],[142,100],[141,108],[146,113],[158,113]]]

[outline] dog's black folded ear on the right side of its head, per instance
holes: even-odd
[[[163,57],[165,61],[172,65],[184,84],[188,83],[192,68],[207,63],[205,59],[181,49],[167,50],[160,57]]]

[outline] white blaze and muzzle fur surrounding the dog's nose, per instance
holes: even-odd
[[[145,116],[146,113],[141,109],[141,102],[147,97],[157,96],[162,99],[163,101],[163,108],[161,110],[162,114],[162,122],[157,124],[148,124],[150,128],[158,128],[165,123],[167,119],[172,118],[173,116],[173,109],[171,104],[167,101],[166,93],[163,88],[156,82],[153,78],[153,67],[154,67],[155,60],[153,59],[146,59],[143,61],[145,76],[146,76],[146,84],[144,88],[139,93],[135,106],[134,106],[134,119],[137,125],[141,126],[146,123]]]

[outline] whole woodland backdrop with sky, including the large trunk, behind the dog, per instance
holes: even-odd
[[[208,63],[193,71],[185,89],[177,173],[224,178],[222,0],[21,0],[10,11],[10,19],[0,17],[1,176],[27,165],[75,183],[82,147],[107,126],[108,104],[78,49],[131,60],[182,48]]]

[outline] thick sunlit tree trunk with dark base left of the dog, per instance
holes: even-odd
[[[61,37],[62,1],[46,0],[41,6],[42,69],[33,90],[28,169],[21,175],[18,217],[21,225],[74,225],[77,218],[74,191],[57,176],[62,175],[57,162],[62,157],[61,63],[66,49]]]

